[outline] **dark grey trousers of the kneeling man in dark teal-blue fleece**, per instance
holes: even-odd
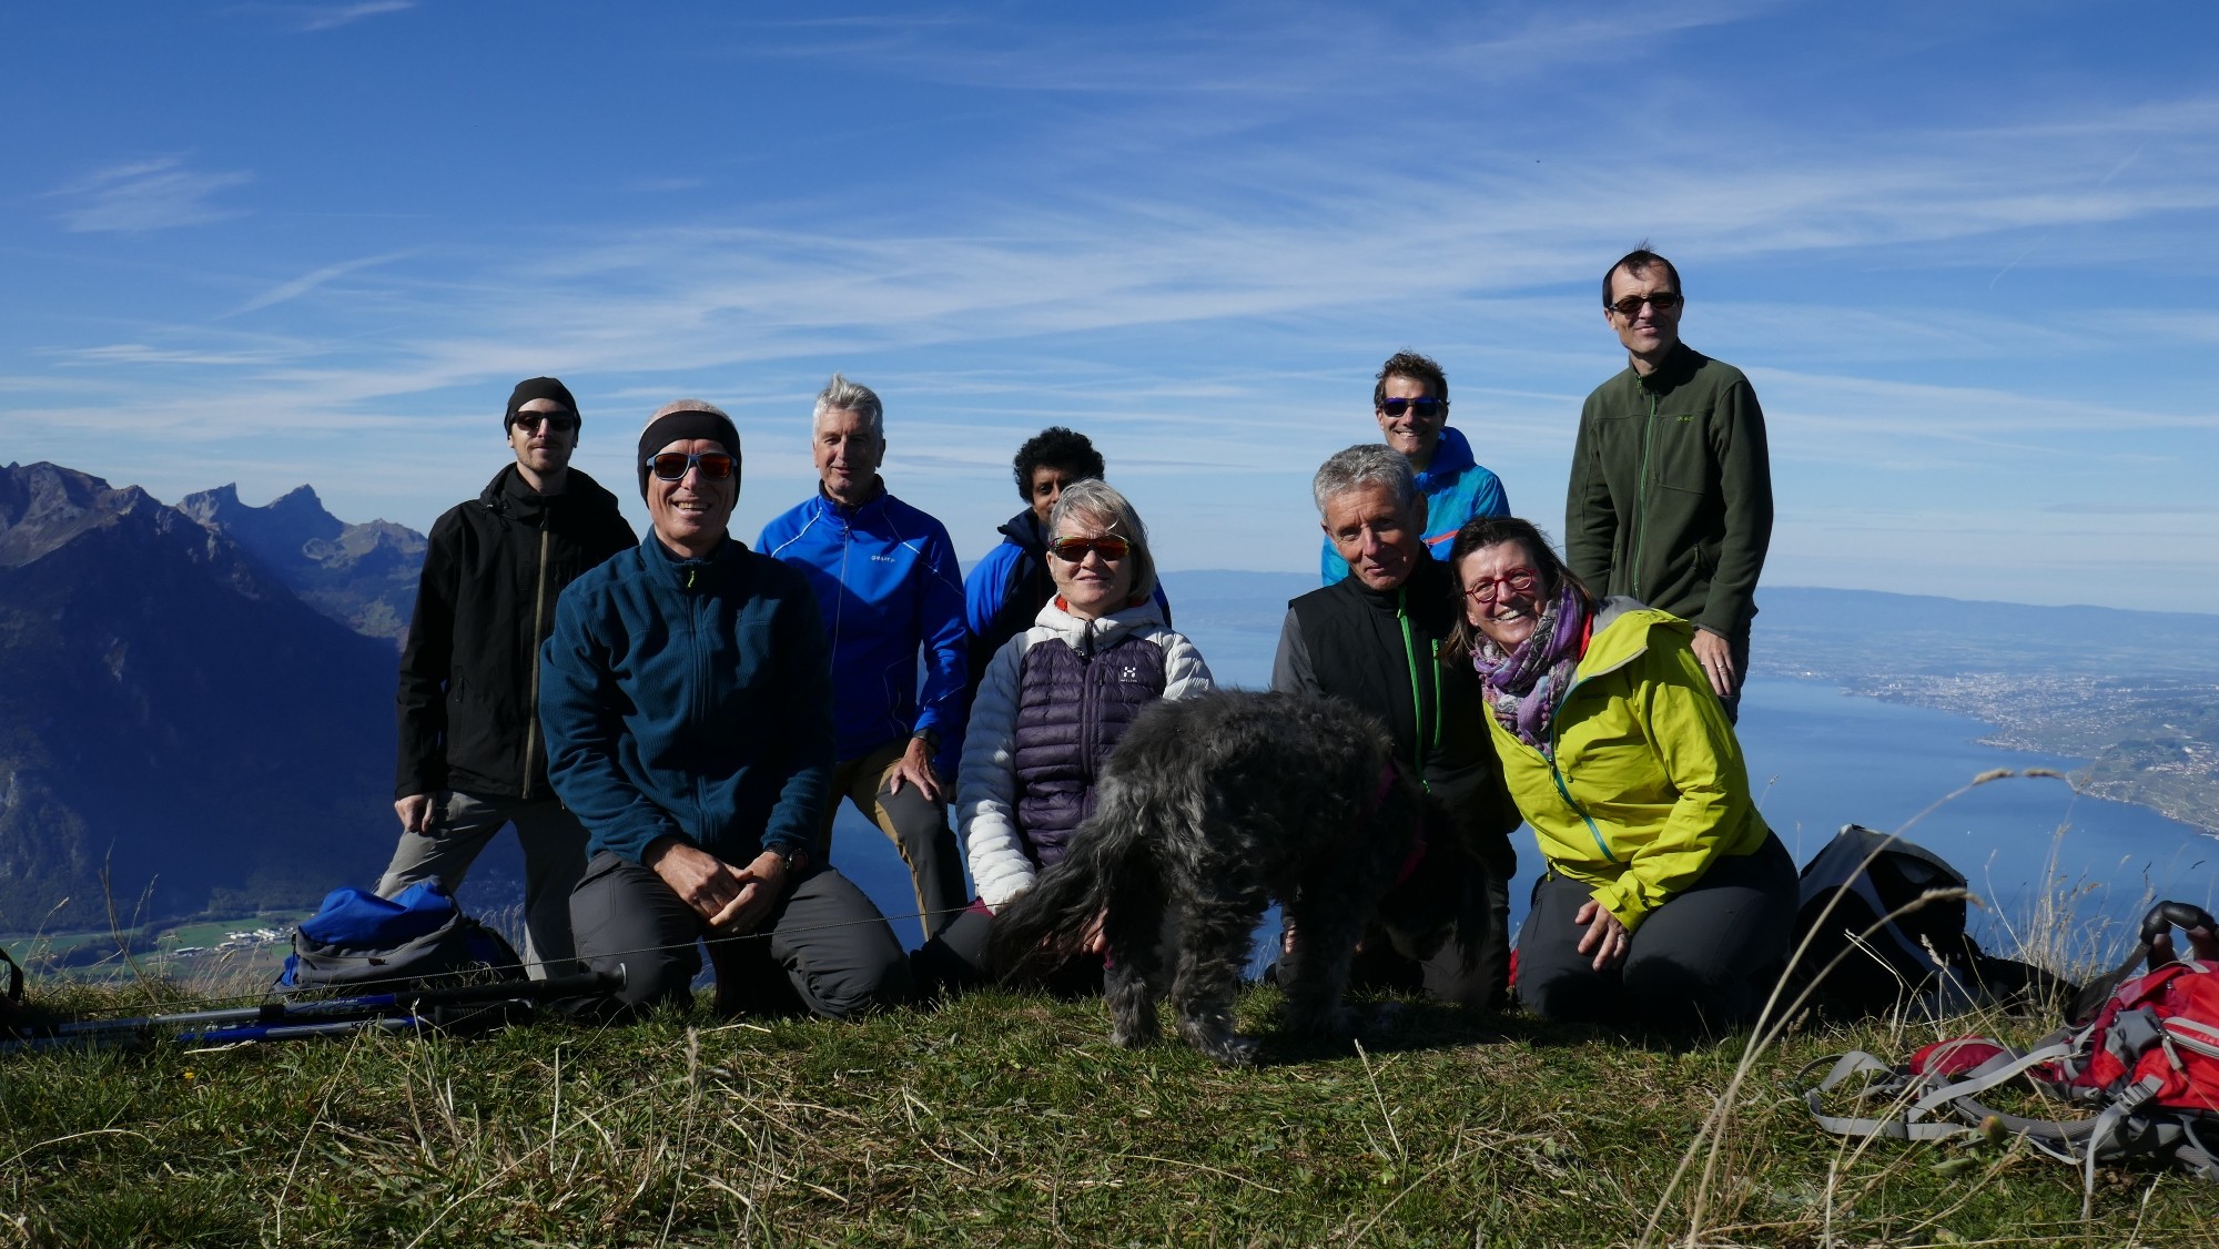
[[[832,867],[794,881],[770,918],[741,936],[710,936],[652,867],[599,852],[570,894],[577,956],[621,972],[619,1014],[692,1001],[706,941],[717,1014],[852,1018],[910,998],[910,961],[863,890]]]

